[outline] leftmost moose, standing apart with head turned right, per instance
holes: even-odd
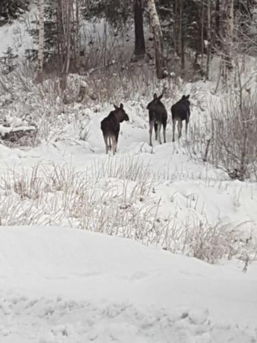
[[[109,113],[108,117],[101,121],[103,139],[106,143],[106,154],[108,154],[108,150],[112,150],[113,154],[117,152],[120,123],[122,123],[124,120],[130,120],[127,113],[125,113],[123,104],[120,104],[119,107],[114,105],[114,108],[115,109]]]

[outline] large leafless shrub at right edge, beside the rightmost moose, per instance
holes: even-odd
[[[256,178],[257,102],[231,95],[209,109],[204,129],[191,126],[192,156],[227,171],[232,179]]]

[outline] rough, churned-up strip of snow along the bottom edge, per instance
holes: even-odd
[[[207,309],[136,307],[130,303],[0,297],[1,343],[254,343],[256,331],[214,323]]]

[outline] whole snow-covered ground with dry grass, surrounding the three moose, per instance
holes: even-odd
[[[0,56],[23,55],[25,26],[0,29]],[[257,342],[257,184],[197,158],[193,131],[171,143],[171,104],[191,93],[202,128],[214,85],[168,88],[154,147],[146,106],[163,85],[118,92],[130,121],[108,156],[112,104],[64,106],[55,80],[1,80],[1,123],[36,123],[40,144],[0,144],[0,343]]]

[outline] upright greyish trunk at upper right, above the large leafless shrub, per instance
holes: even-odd
[[[223,67],[225,73],[232,69],[234,0],[221,0],[221,45],[223,50]]]

